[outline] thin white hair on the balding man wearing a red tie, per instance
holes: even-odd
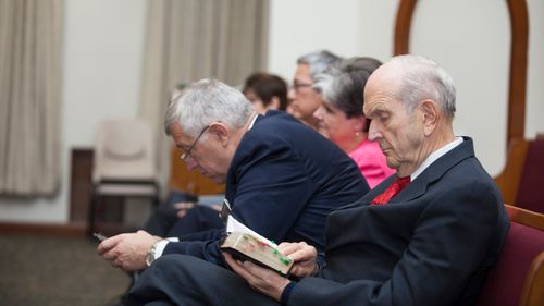
[[[436,62],[421,56],[405,54],[390,62],[399,65],[403,87],[397,97],[412,111],[424,99],[434,100],[449,119],[454,119],[456,89],[449,74]]]

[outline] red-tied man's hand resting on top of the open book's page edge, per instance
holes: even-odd
[[[312,277],[318,272],[318,250],[306,242],[287,243],[277,246],[277,250],[293,259],[289,273],[297,278]]]

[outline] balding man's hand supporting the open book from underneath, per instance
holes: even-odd
[[[226,264],[234,272],[244,278],[252,289],[280,301],[282,292],[289,283],[289,280],[277,274],[275,271],[262,268],[254,262],[236,260],[228,253],[223,253]]]

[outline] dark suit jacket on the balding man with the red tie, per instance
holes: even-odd
[[[294,287],[288,305],[473,305],[508,231],[500,193],[470,138],[433,162],[384,206],[331,213],[326,264]]]

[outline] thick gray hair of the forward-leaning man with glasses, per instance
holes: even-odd
[[[164,131],[171,135],[175,122],[191,137],[197,137],[212,122],[239,128],[251,112],[251,103],[240,91],[217,79],[203,78],[187,85],[172,99],[164,117]]]

